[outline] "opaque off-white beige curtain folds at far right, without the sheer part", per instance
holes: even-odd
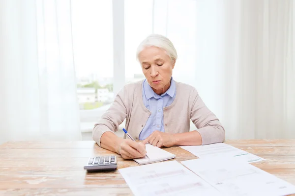
[[[228,138],[295,138],[294,0],[224,1]]]

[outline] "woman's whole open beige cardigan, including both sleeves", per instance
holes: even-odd
[[[114,103],[102,115],[93,128],[93,140],[100,146],[100,138],[106,131],[118,131],[126,119],[125,128],[136,140],[151,112],[142,98],[142,81],[126,84],[116,96]],[[217,117],[207,108],[197,90],[187,84],[176,83],[176,97],[171,105],[164,107],[164,127],[167,133],[184,133],[190,130],[190,120],[198,128],[203,145],[223,142],[225,131]],[[126,135],[124,135],[126,138]]]

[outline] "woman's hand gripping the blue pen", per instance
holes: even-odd
[[[146,156],[146,146],[143,143],[138,143],[129,139],[122,139],[117,147],[117,153],[123,159],[136,159]]]

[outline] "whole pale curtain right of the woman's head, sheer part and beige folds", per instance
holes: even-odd
[[[153,16],[227,139],[295,138],[293,0],[154,0]]]

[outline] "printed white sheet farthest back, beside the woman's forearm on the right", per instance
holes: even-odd
[[[180,146],[199,158],[221,158],[235,157],[239,160],[244,160],[248,163],[254,163],[265,160],[259,156],[230,146],[225,143],[216,143],[203,146]]]

